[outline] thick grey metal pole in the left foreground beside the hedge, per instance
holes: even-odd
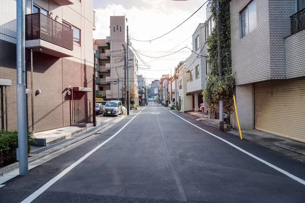
[[[17,129],[19,175],[28,174],[25,96],[25,0],[17,0]]]

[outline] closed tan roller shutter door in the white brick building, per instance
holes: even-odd
[[[305,78],[255,84],[255,129],[305,143]]]

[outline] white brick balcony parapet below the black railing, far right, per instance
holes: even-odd
[[[287,79],[305,76],[305,30],[285,39]]]

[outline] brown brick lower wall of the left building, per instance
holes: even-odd
[[[0,40],[0,78],[12,80],[8,87],[8,127],[17,129],[16,103],[16,45]],[[27,88],[31,89],[30,52],[26,49],[26,81]],[[35,131],[43,131],[71,125],[72,103],[66,88],[70,85],[93,87],[94,68],[65,58],[34,52],[34,122]],[[85,74],[86,73],[86,74]],[[35,95],[40,89],[41,94]],[[92,92],[86,93],[86,121],[93,120]],[[0,100],[1,103],[1,100]],[[0,105],[1,108],[1,105]],[[32,131],[31,95],[27,95],[27,123]],[[1,111],[0,111],[1,112]],[[0,120],[5,116],[1,117]],[[1,123],[1,122],[0,122]],[[5,124],[4,124],[5,126]]]

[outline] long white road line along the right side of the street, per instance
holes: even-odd
[[[174,113],[171,112],[171,111],[170,111],[170,113],[174,114]],[[184,121],[190,123],[191,125],[194,125],[194,126],[197,127],[198,129],[201,129],[202,131],[205,131],[206,133],[210,134],[211,136],[214,136],[215,138],[217,138],[217,139],[219,139],[219,140],[221,140],[221,141],[223,141],[223,142],[225,142],[225,143],[231,145],[232,147],[238,149],[239,151],[241,151],[241,152],[243,152],[243,153],[245,153],[245,154],[251,156],[252,158],[255,158],[256,160],[258,160],[258,161],[260,161],[260,162],[262,162],[262,163],[264,163],[264,164],[270,166],[271,168],[274,168],[275,170],[277,170],[278,172],[281,172],[282,174],[288,176],[289,178],[292,178],[293,180],[295,180],[295,181],[297,181],[297,182],[299,182],[299,183],[305,185],[305,181],[304,181],[304,180],[302,180],[302,179],[300,179],[300,178],[298,178],[298,177],[296,177],[296,176],[294,176],[294,175],[292,175],[292,174],[290,174],[290,173],[284,171],[282,168],[279,168],[278,166],[275,166],[275,165],[273,165],[273,164],[271,164],[271,163],[269,163],[269,162],[267,162],[267,161],[265,161],[265,160],[263,160],[263,159],[261,159],[261,158],[255,156],[255,155],[251,154],[250,152],[247,152],[246,150],[241,149],[240,147],[237,147],[236,145],[234,145],[234,144],[232,144],[232,143],[230,143],[230,142],[228,142],[228,141],[226,141],[226,140],[224,140],[224,139],[222,139],[222,138],[216,136],[215,134],[213,134],[213,133],[211,133],[211,132],[209,132],[209,131],[206,131],[206,130],[202,129],[201,127],[198,127],[197,125],[195,125],[195,124],[193,124],[193,123],[187,121],[186,119],[184,119],[184,118],[182,118],[182,117],[180,117],[180,116],[178,116],[178,115],[176,115],[176,114],[174,114],[174,115],[177,116],[177,117],[179,117],[179,118],[181,118],[182,120],[184,120]]]

